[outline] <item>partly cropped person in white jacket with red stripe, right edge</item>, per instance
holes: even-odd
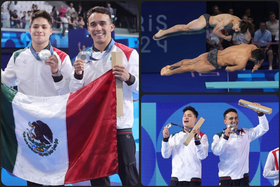
[[[266,165],[263,168],[263,177],[267,179],[273,179],[274,185],[279,183],[279,147],[270,151]]]

